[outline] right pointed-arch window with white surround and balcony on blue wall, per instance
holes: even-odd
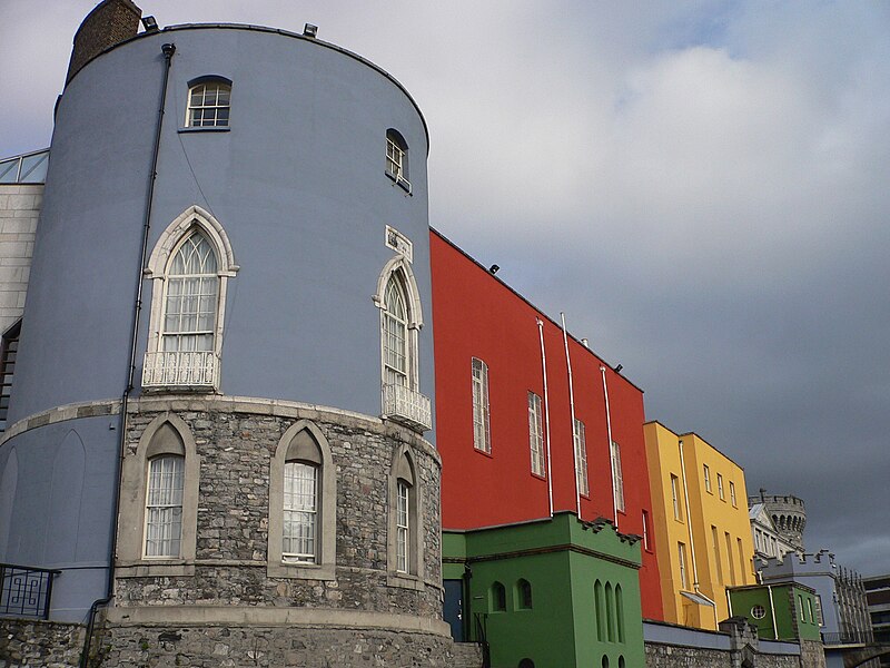
[[[432,428],[429,397],[419,392],[421,298],[411,263],[390,259],[380,273],[374,302],[380,310],[380,385],[384,418],[415,431]]]

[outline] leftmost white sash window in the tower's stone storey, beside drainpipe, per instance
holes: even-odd
[[[146,557],[179,557],[182,537],[185,458],[150,460],[146,499]]]

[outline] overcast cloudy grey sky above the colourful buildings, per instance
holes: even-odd
[[[49,145],[93,0],[0,0],[0,156]],[[431,131],[429,219],[890,572],[890,3],[142,0],[360,53]]]

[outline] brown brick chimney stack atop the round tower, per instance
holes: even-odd
[[[131,0],[102,0],[87,14],[75,33],[66,86],[92,58],[131,37],[139,30],[142,10]]]

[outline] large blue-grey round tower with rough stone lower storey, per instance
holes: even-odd
[[[445,665],[417,106],[308,31],[96,52],[57,108],[0,558],[62,571],[52,618],[109,595],[110,665]]]

